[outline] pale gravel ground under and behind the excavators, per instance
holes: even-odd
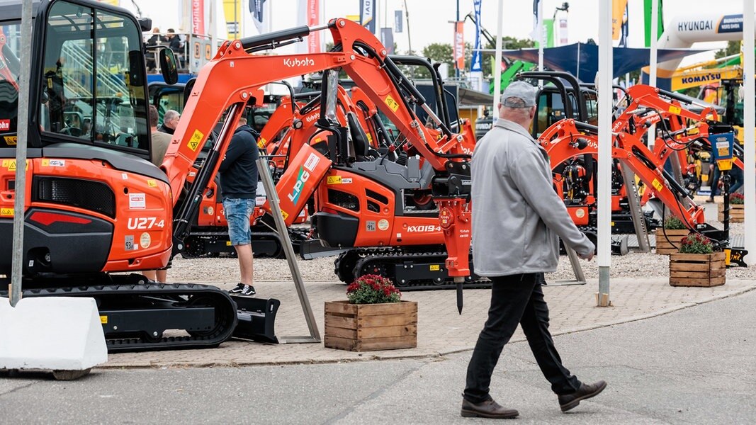
[[[712,222],[711,225],[721,228],[721,223]],[[731,234],[743,234],[742,223],[733,223]],[[749,258],[750,257],[750,258]],[[746,256],[751,264],[756,255]],[[302,260],[297,258],[299,271],[305,281],[338,281],[333,272],[335,256],[320,259]],[[598,278],[596,258],[591,262],[581,260],[585,278]],[[617,278],[632,278],[637,276],[664,277],[669,275],[669,257],[655,253],[628,253],[625,256],[611,257],[611,276]],[[285,259],[255,259],[254,276],[256,281],[290,281],[291,273]],[[732,267],[727,269],[728,278],[756,279],[756,267]],[[569,259],[562,256],[559,269],[547,275],[547,281],[572,280],[575,275]],[[168,271],[169,282],[226,282],[234,283],[238,279],[237,259],[221,257],[214,259],[183,259],[177,256],[173,260],[173,268]]]

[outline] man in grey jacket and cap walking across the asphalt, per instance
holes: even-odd
[[[503,92],[499,119],[472,154],[472,259],[476,274],[491,279],[491,308],[467,368],[464,417],[516,417],[488,394],[504,345],[522,325],[538,366],[562,411],[596,396],[604,381],[581,383],[562,365],[549,333],[541,289],[544,272],[556,271],[559,239],[582,259],[595,247],[572,223],[553,190],[546,151],[531,138],[536,88],[513,82]]]

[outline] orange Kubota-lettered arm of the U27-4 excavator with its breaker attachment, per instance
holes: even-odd
[[[290,44],[301,40],[312,31],[329,29],[334,45],[341,51],[317,54],[293,54],[280,56],[255,56],[248,51],[267,50],[281,44]],[[175,241],[181,244],[191,211],[197,205],[201,193],[212,175],[215,175],[220,159],[225,154],[231,135],[243,113],[244,105],[250,99],[262,98],[260,88],[268,82],[279,81],[293,76],[322,70],[343,69],[364,89],[367,98],[398,126],[399,131],[407,137],[409,146],[436,170],[434,186],[446,200],[451,202],[448,209],[453,213],[446,219],[445,228],[461,228],[463,232],[448,233],[448,250],[464,250],[459,259],[454,260],[450,275],[469,275],[467,253],[469,250],[469,219],[466,213],[467,203],[463,201],[469,191],[469,155],[463,153],[463,138],[457,135],[432,135],[408,107],[407,96],[422,104],[422,96],[401,75],[398,68],[387,57],[386,49],[363,26],[351,20],[335,19],[324,26],[302,26],[275,33],[249,37],[225,42],[215,57],[200,70],[197,82],[187,99],[181,121],[169,144],[162,169],[169,178],[172,196],[178,202],[184,182],[192,171],[194,160],[200,153],[207,135],[215,123],[228,110],[225,124],[218,135],[218,140],[208,154],[206,165],[193,187],[181,204],[175,216]],[[404,92],[401,91],[404,90]],[[468,228],[464,231],[464,226]],[[457,237],[465,234],[463,238]],[[175,247],[180,250],[181,246]]]

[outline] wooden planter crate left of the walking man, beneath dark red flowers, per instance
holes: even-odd
[[[326,302],[325,346],[374,351],[417,347],[417,302]]]

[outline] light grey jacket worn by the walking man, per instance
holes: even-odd
[[[594,250],[553,189],[544,148],[519,124],[497,119],[472,154],[472,259],[476,274],[556,271],[557,236],[581,256]]]

